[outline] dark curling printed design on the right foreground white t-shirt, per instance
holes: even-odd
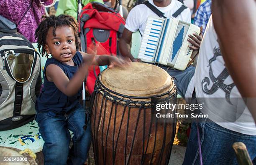
[[[202,80],[202,90],[205,94],[207,95],[212,95],[213,93],[215,93],[218,89],[221,89],[225,92],[225,98],[227,100],[227,102],[229,104],[232,105],[231,101],[230,101],[230,92],[233,89],[233,87],[235,86],[235,83],[231,83],[229,85],[224,84],[223,82],[226,80],[226,78],[229,76],[228,70],[225,67],[225,69],[220,73],[220,75],[218,75],[218,77],[215,77],[213,75],[212,72],[212,62],[215,61],[217,59],[218,56],[222,56],[221,52],[220,52],[220,47],[214,47],[213,49],[213,57],[209,60],[209,64],[207,67],[210,67],[209,69],[209,77],[205,77]],[[208,86],[210,85],[210,80],[212,81],[213,85],[212,87],[210,87],[210,89],[208,89]]]

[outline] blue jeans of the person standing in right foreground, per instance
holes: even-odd
[[[233,143],[243,142],[256,164],[256,136],[245,135],[228,130],[214,122],[198,123],[203,165],[237,165]],[[183,165],[200,165],[197,143],[197,126],[192,123]]]

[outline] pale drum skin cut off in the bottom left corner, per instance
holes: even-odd
[[[3,163],[3,165],[13,165],[13,164],[18,164],[18,165],[37,165],[36,161],[31,158],[29,156],[28,153],[23,153],[20,154],[21,150],[17,149],[17,148],[11,148],[11,147],[0,147],[0,156],[2,157],[17,157],[17,158],[27,158],[27,161],[24,162],[9,162],[9,163]],[[0,165],[2,165],[2,163],[0,163]]]

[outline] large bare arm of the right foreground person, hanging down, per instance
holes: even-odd
[[[256,98],[256,1],[212,0],[212,20],[225,65],[242,97]],[[256,102],[247,102],[256,121]]]

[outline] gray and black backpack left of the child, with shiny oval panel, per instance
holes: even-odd
[[[16,25],[0,16],[0,131],[33,120],[40,93],[40,55]]]

